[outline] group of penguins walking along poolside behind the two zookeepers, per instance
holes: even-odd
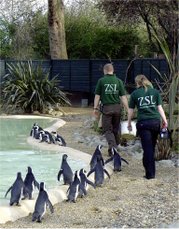
[[[75,171],[73,174],[72,169],[67,162],[68,155],[62,155],[62,162],[57,175],[57,180],[60,181],[62,176],[64,185],[69,185],[66,193],[66,201],[76,203],[77,197],[86,196],[88,185],[91,185],[93,188],[102,186],[104,183],[105,174],[110,179],[108,171],[104,168],[105,164],[112,162],[113,170],[115,172],[121,171],[122,161],[128,164],[128,162],[119,155],[116,148],[112,148],[112,154],[110,158],[104,161],[101,149],[102,145],[98,145],[96,147],[89,163],[90,171],[88,173],[82,168]],[[88,179],[92,173],[94,173],[94,183]],[[30,166],[28,167],[24,181],[22,179],[21,172],[17,173],[17,178],[12,186],[7,190],[5,197],[7,196],[8,192],[11,191],[10,206],[14,204],[19,206],[21,199],[30,200],[33,198],[34,187],[39,189],[39,193],[36,199],[34,212],[32,214],[32,221],[41,222],[42,217],[46,212],[46,208],[49,207],[51,213],[54,212],[54,208],[49,199],[47,190],[45,189],[45,183],[40,182],[39,184],[37,182]]]

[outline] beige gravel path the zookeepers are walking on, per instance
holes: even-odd
[[[90,111],[91,112],[91,111]],[[67,124],[60,128],[69,147],[92,154],[94,146],[78,143],[75,131],[89,136],[92,129],[84,128],[87,114],[70,115],[64,119]],[[107,148],[103,149],[107,158]],[[62,202],[55,205],[51,215],[47,211],[41,224],[32,223],[31,215],[0,225],[1,228],[159,228],[179,227],[178,220],[178,168],[157,163],[156,179],[143,178],[141,159],[126,152],[121,156],[129,165],[122,165],[122,171],[113,173],[103,187],[90,188],[85,198],[77,202]]]

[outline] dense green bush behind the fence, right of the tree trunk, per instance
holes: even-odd
[[[134,29],[101,25],[80,17],[66,22],[69,58],[130,58],[139,38]]]

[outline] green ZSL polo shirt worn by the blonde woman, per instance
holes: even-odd
[[[145,88],[140,87],[136,89],[130,96],[129,108],[134,109],[137,107],[137,120],[147,119],[159,119],[160,114],[157,106],[162,105],[162,100],[159,92],[148,87],[147,91]]]

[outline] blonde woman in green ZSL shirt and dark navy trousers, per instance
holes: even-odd
[[[162,108],[159,92],[153,88],[152,83],[144,75],[135,78],[137,89],[131,94],[128,113],[128,130],[132,130],[131,119],[134,108],[137,107],[137,133],[141,138],[143,148],[143,166],[145,178],[155,178],[155,145],[160,131],[160,119],[163,128],[168,123]]]

